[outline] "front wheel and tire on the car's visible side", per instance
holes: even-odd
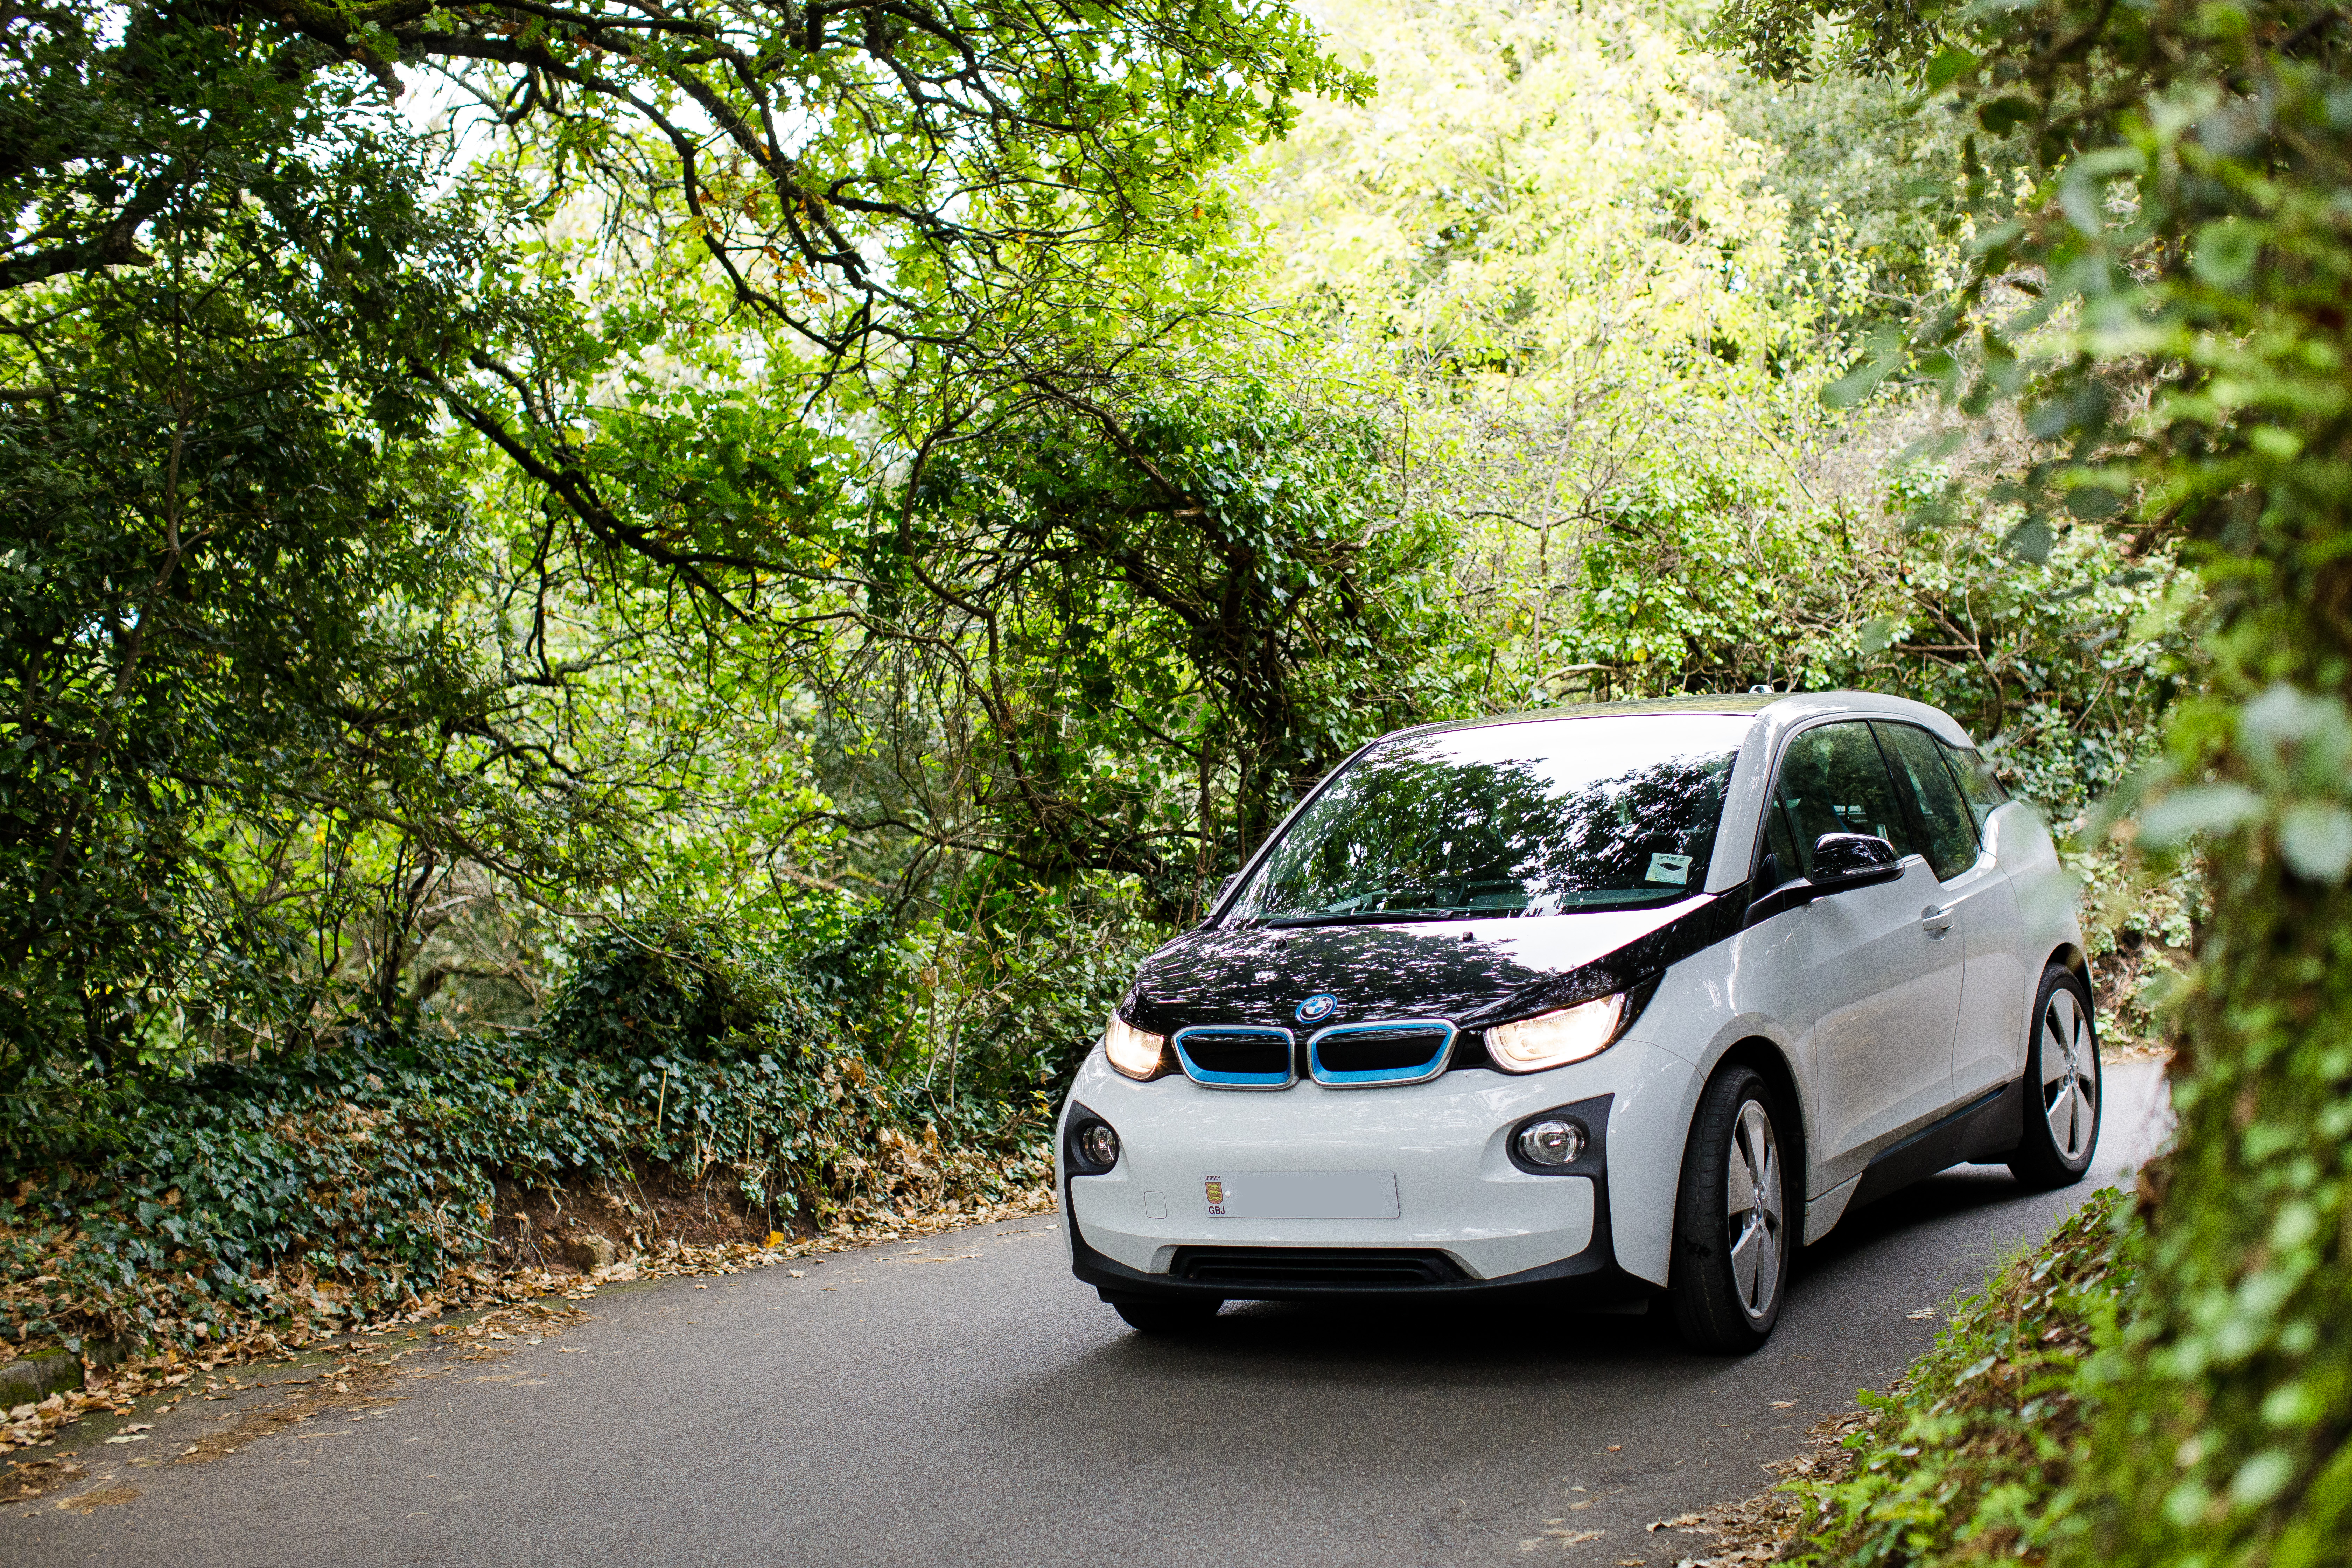
[[[1788,1291],[1788,1173],[1780,1103],[1750,1067],[1698,1095],[1675,1194],[1665,1293],[1691,1349],[1748,1354],[1771,1338]]]

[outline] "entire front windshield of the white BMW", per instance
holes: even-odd
[[[1298,813],[1232,914],[1317,926],[1684,898],[1708,879],[1748,726],[1628,715],[1392,741]]]

